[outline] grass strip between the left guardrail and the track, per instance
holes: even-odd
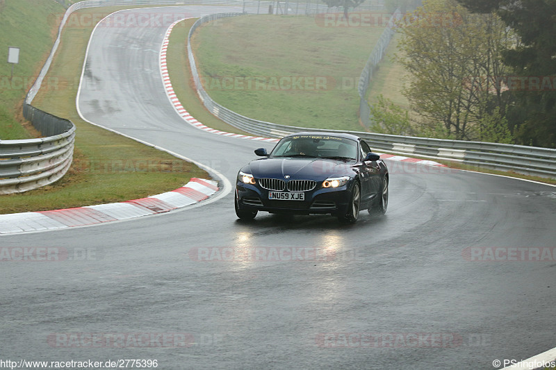
[[[79,10],[92,19],[120,8]],[[102,14],[99,14],[102,13]],[[94,24],[76,22],[63,32],[47,82],[33,106],[77,126],[74,163],[61,180],[38,190],[0,196],[1,213],[72,208],[138,199],[174,190],[191,177],[208,174],[189,162],[83,121],[75,97]]]

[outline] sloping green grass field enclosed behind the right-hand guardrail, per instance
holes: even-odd
[[[248,15],[204,24],[192,47],[205,90],[240,115],[361,131],[357,82],[383,29]]]

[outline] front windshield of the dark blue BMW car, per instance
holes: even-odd
[[[284,157],[357,160],[357,142],[345,137],[325,135],[288,136],[270,153],[270,158]]]

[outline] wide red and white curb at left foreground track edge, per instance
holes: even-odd
[[[208,196],[218,192],[218,190],[218,183],[216,181],[191,178],[189,183],[179,189],[172,190],[172,192],[165,192],[132,201],[88,205],[86,207],[67,208],[65,210],[0,215],[0,234],[89,226],[110,221],[157,215],[203,201]]]

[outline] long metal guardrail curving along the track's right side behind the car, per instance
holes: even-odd
[[[188,58],[197,94],[199,94],[204,106],[206,106],[213,115],[222,119],[222,121],[227,124],[262,137],[283,137],[284,135],[299,131],[314,131],[314,129],[311,128],[279,125],[245,117],[213,101],[202,87],[193,51],[190,46],[191,36],[201,24],[223,17],[234,17],[237,15],[241,15],[241,13],[208,15],[197,20],[190,29],[188,35]],[[319,129],[318,131],[326,133],[344,132],[359,135],[363,137],[370,146],[380,151],[456,160],[479,167],[556,178],[556,149],[489,142],[430,139],[425,137],[386,135],[358,131],[326,129]]]

